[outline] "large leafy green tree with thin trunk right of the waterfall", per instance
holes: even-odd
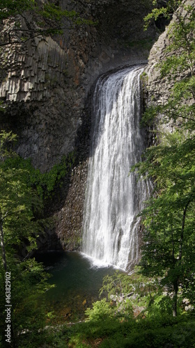
[[[194,136],[164,134],[161,143],[146,152],[140,175],[153,178],[153,196],[143,217],[143,274],[161,276],[171,293],[178,286],[194,303]]]

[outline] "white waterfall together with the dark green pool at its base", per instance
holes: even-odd
[[[144,132],[140,129],[142,65],[103,74],[93,96],[93,136],[84,208],[82,251],[39,255],[49,282],[45,296],[58,322],[84,318],[99,299],[102,280],[114,267],[95,267],[93,260],[130,270],[139,259],[139,219],[148,183],[137,181],[130,168],[141,160]]]

